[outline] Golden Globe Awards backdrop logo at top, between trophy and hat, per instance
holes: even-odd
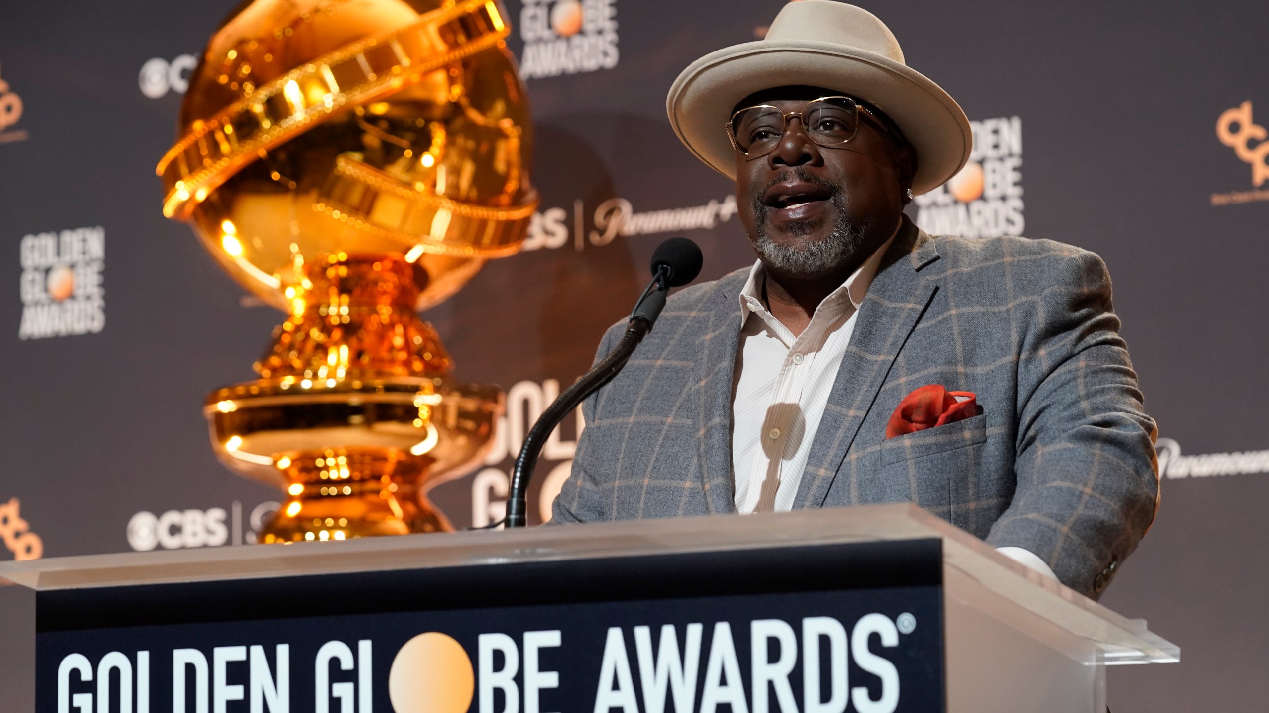
[[[617,0],[524,0],[520,76],[575,75],[617,66]]]

